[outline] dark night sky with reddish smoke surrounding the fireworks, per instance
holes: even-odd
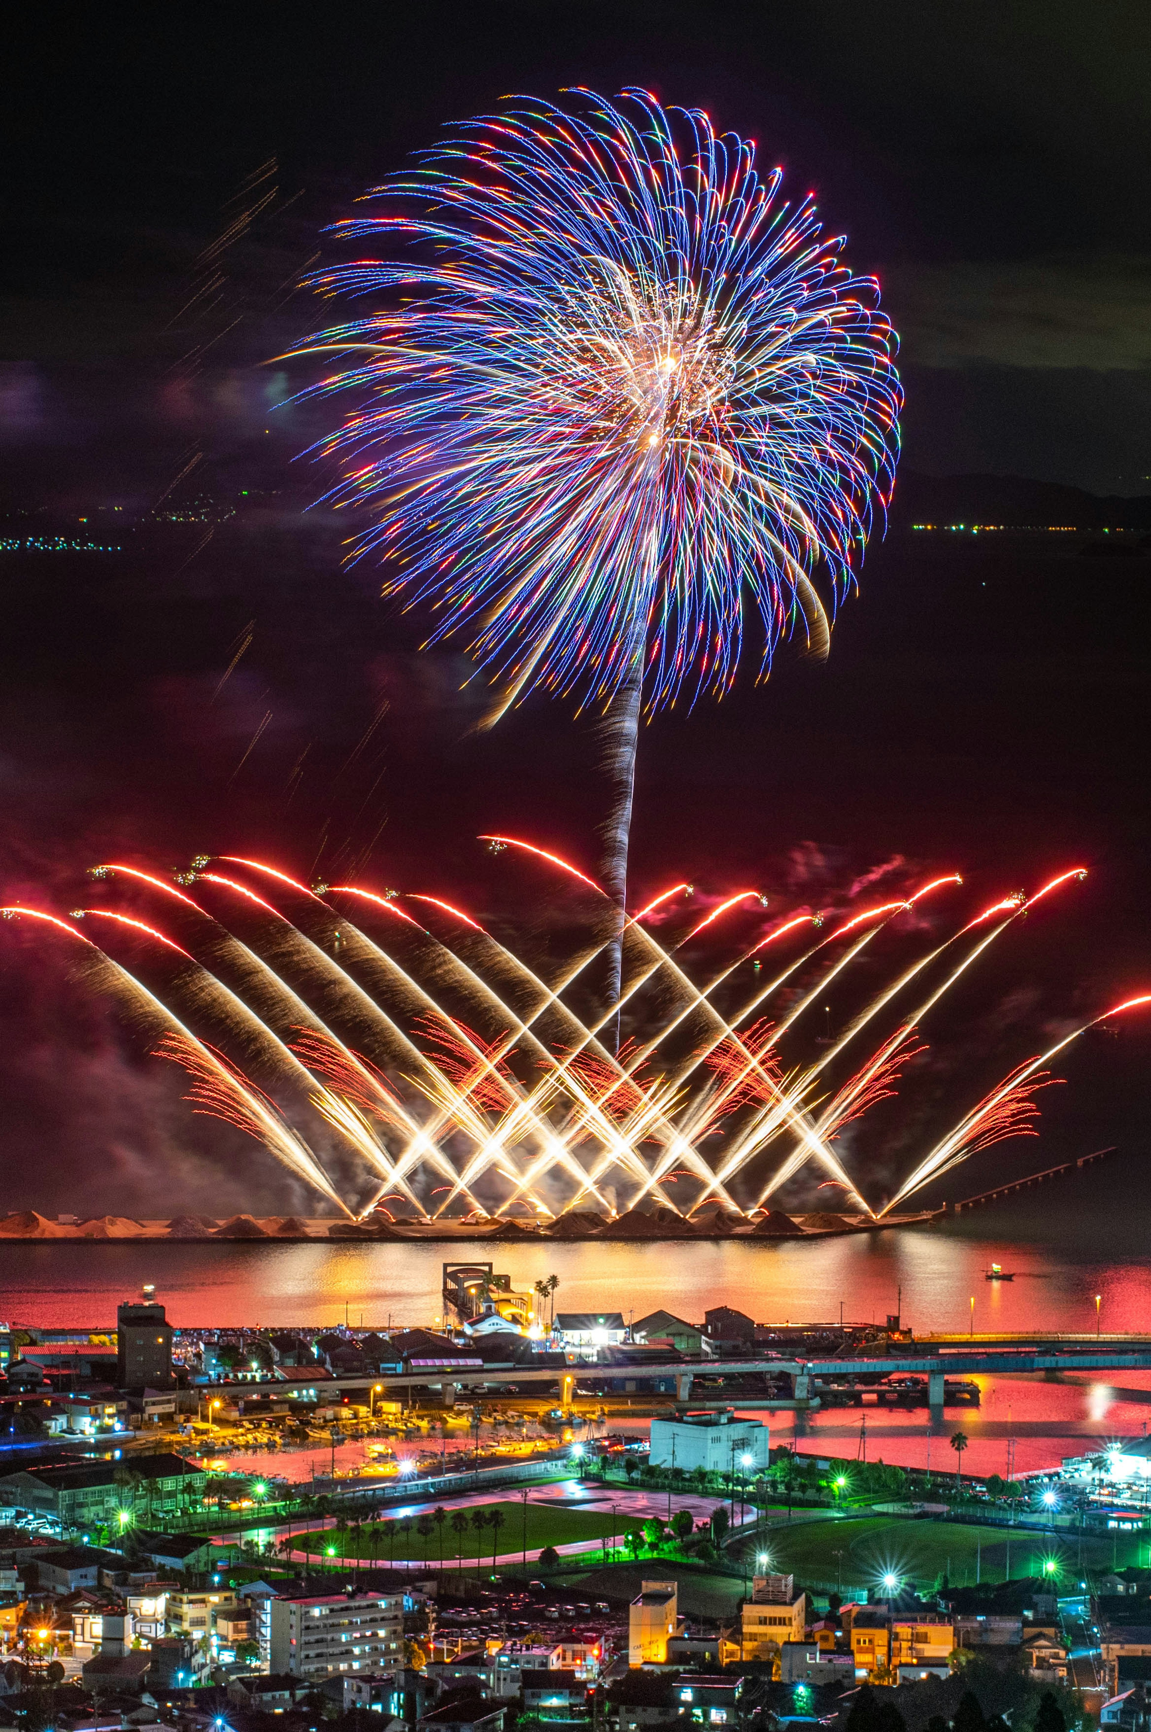
[[[1092,556],[1083,533],[923,537],[902,509],[940,476],[1151,494],[1149,38],[1142,5],[1051,0],[24,14],[0,535],[114,551],[0,554],[5,897],[76,906],[106,894],[83,873],[111,854],[170,871],[263,850],[305,878],[469,899],[507,930],[535,899],[535,946],[575,918],[474,837],[590,866],[592,722],[537,698],[469,733],[462,656],[419,655],[421,622],[377,599],[377,570],[341,565],[339,523],[305,514],[322,423],[286,402],[303,378],[273,357],[325,317],[298,288],[332,256],[324,225],[443,121],[511,90],[644,85],[815,189],[883,284],[907,412],[891,527],[829,662],[784,650],[767,686],[646,729],[637,895],[685,876],[703,899],[753,883],[772,909],[829,908],[872,875],[895,892],[959,869],[959,918],[1090,868],[924,1029],[916,1089],[852,1145],[883,1193],[931,1114],[1151,984],[1151,559]],[[192,1119],[52,946],[3,928],[3,951],[0,1204],[303,1204],[254,1145]],[[1099,1188],[1118,1209],[1146,1152],[1149,1039],[1134,1022],[1090,1037],[1044,1140],[943,1193],[1116,1143]]]

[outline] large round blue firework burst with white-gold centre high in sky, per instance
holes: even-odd
[[[878,282],[755,145],[642,90],[509,99],[339,223],[370,310],[310,345],[357,554],[505,689],[656,708],[827,615],[886,506],[902,391]]]

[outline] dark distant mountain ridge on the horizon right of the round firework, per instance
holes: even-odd
[[[1151,494],[1099,497],[1023,475],[921,475],[900,469],[893,527],[910,523],[1000,523],[1007,528],[1151,530]]]

